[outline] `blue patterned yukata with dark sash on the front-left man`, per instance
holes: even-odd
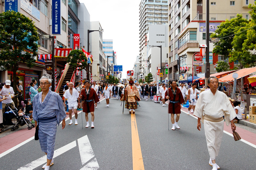
[[[42,92],[33,101],[33,119],[39,126],[38,137],[41,149],[52,159],[54,153],[57,125],[66,117],[63,101],[58,93],[49,90],[42,102]]]

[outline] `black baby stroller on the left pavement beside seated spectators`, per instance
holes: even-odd
[[[17,122],[16,122],[16,124],[14,125],[14,127],[11,128],[11,131],[14,131],[15,129],[18,129],[18,128],[20,128],[20,126],[23,126],[23,125],[25,125],[25,124],[28,125],[28,130],[30,130],[30,129],[36,127],[35,124],[32,124],[32,123],[30,122],[30,120],[26,119],[26,117],[25,117],[26,115],[19,116],[19,114],[18,114],[18,109],[17,109],[15,106],[13,106],[12,103],[6,104],[6,107],[7,107],[7,109],[5,109],[5,110],[7,110],[7,111],[6,111],[5,113],[15,115],[14,117],[15,117],[16,120],[17,120]],[[5,107],[5,108],[6,108],[6,107]],[[14,109],[12,109],[12,108],[14,108]],[[29,124],[31,124],[31,126],[29,126]],[[19,126],[19,125],[20,125],[20,126]]]

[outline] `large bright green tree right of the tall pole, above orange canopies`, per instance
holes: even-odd
[[[220,38],[219,42],[214,43],[213,53],[229,57],[230,62],[238,61],[240,69],[247,67],[251,63],[251,59],[248,58],[251,54],[243,48],[243,43],[246,40],[246,29],[249,27],[249,21],[240,14],[237,14],[236,18],[222,22],[211,35]]]

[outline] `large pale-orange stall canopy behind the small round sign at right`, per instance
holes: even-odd
[[[248,75],[250,75],[250,74],[252,74],[254,72],[256,72],[256,67],[237,70],[234,73],[238,74],[238,78],[237,79],[239,79],[239,78],[248,76]],[[233,74],[228,74],[227,76],[219,78],[219,82],[231,82],[231,81],[234,81],[234,78],[232,77]]]

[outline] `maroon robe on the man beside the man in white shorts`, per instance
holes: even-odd
[[[85,90],[86,88],[83,89],[81,92],[82,100],[84,100],[83,112],[85,113],[94,112],[94,102],[97,103],[100,101],[98,98],[98,95],[93,88],[89,88],[88,92]],[[92,100],[92,101],[88,102],[86,100]]]

